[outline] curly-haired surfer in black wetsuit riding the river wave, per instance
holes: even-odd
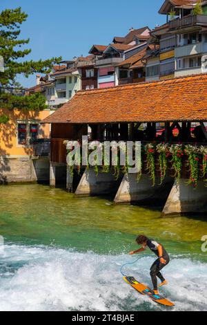
[[[142,247],[139,248],[139,250],[132,250],[132,252],[130,252],[130,255],[143,252],[144,250],[146,250],[148,246],[148,248],[150,248],[150,250],[152,250],[152,252],[154,252],[157,255],[157,257],[159,257],[158,259],[156,259],[156,261],[152,264],[150,268],[150,276],[152,278],[152,284],[154,286],[154,294],[159,295],[157,289],[157,277],[161,281],[159,287],[168,284],[168,281],[164,279],[160,271],[162,268],[164,268],[164,266],[166,266],[169,263],[170,257],[166,252],[166,250],[164,249],[163,245],[157,243],[157,241],[154,241],[153,239],[148,239],[148,237],[144,235],[139,235],[136,241],[137,244],[141,245]]]

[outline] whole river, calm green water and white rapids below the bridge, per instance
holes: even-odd
[[[207,310],[207,216],[160,212],[46,185],[1,186],[0,310],[166,310],[122,279],[121,265],[137,259],[128,252],[140,233],[170,253],[161,293],[172,310]],[[151,286],[155,255],[139,257],[123,271]]]

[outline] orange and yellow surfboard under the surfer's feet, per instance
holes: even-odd
[[[161,304],[163,306],[168,306],[168,307],[175,306],[175,304],[172,304],[172,302],[169,301],[168,299],[161,297],[161,295],[155,295],[150,288],[148,288],[144,284],[141,284],[134,277],[124,277],[124,281],[130,284],[130,286],[132,286],[132,288],[137,290],[138,293],[141,293],[141,295],[148,296],[151,300],[157,302],[157,304]]]

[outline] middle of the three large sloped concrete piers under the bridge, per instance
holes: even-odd
[[[172,187],[172,178],[166,178],[162,185],[152,187],[152,180],[148,175],[142,175],[137,181],[137,174],[126,174],[119,186],[115,203],[146,203],[160,205],[166,202]]]

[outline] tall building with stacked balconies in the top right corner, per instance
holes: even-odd
[[[150,70],[155,57],[147,60],[146,79],[206,73],[207,1],[166,0],[159,13],[166,15],[166,24],[150,33],[160,49],[156,67]]]

